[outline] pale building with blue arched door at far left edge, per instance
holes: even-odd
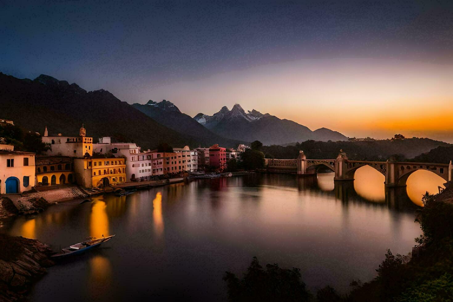
[[[14,151],[13,146],[0,151],[0,194],[22,193],[34,187],[34,155]]]

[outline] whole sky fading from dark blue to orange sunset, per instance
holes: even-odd
[[[0,72],[453,143],[452,1],[0,0]]]

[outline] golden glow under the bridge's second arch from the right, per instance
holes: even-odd
[[[354,174],[354,189],[369,201],[386,201],[386,177],[370,166],[363,166]]]

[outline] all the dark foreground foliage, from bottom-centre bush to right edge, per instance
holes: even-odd
[[[262,268],[256,257],[243,278],[225,273],[228,297],[230,301],[453,301],[453,203],[440,199],[427,192],[415,218],[423,231],[415,240],[420,244],[419,257],[394,255],[387,249],[377,277],[363,284],[353,281],[346,297],[330,286],[312,297],[298,268],[282,269],[277,264]]]

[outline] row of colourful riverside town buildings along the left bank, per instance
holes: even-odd
[[[13,124],[13,121],[6,120]],[[5,122],[4,122],[5,123]],[[37,135],[40,135],[37,133]],[[182,182],[183,177],[226,177],[226,160],[236,158],[235,149],[214,144],[208,148],[154,149],[142,151],[135,143],[115,142],[111,137],[93,141],[80,128],[79,136],[49,135],[45,127],[42,143],[48,146],[43,154],[15,151],[13,145],[0,144],[0,163],[5,173],[0,194],[19,194],[30,190],[62,197],[71,185],[78,185],[82,194],[92,195],[137,187],[152,187]],[[239,149],[248,146],[239,145]],[[223,174],[222,174],[223,173]],[[67,185],[67,186],[64,186]],[[71,190],[73,192],[73,190]]]

